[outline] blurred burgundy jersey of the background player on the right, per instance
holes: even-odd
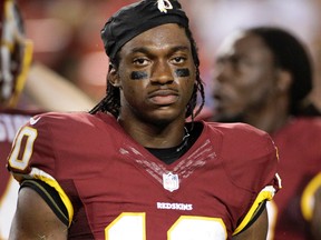
[[[313,194],[321,186],[321,118],[298,118],[273,136],[280,153],[282,193],[272,204],[275,240],[310,240]]]

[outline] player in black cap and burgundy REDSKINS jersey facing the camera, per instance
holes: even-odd
[[[179,2],[126,6],[101,38],[106,97],[88,113],[36,116],[16,136],[10,239],[265,239],[276,148],[249,124],[194,120],[204,88]]]

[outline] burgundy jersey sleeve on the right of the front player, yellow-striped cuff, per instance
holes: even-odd
[[[234,231],[237,234],[253,222],[260,206],[272,200],[281,189],[279,154],[273,140],[264,131],[244,123],[233,123],[227,131],[233,133],[226,134],[222,149],[226,174],[233,184],[250,196],[250,202],[244,202],[245,210]]]

